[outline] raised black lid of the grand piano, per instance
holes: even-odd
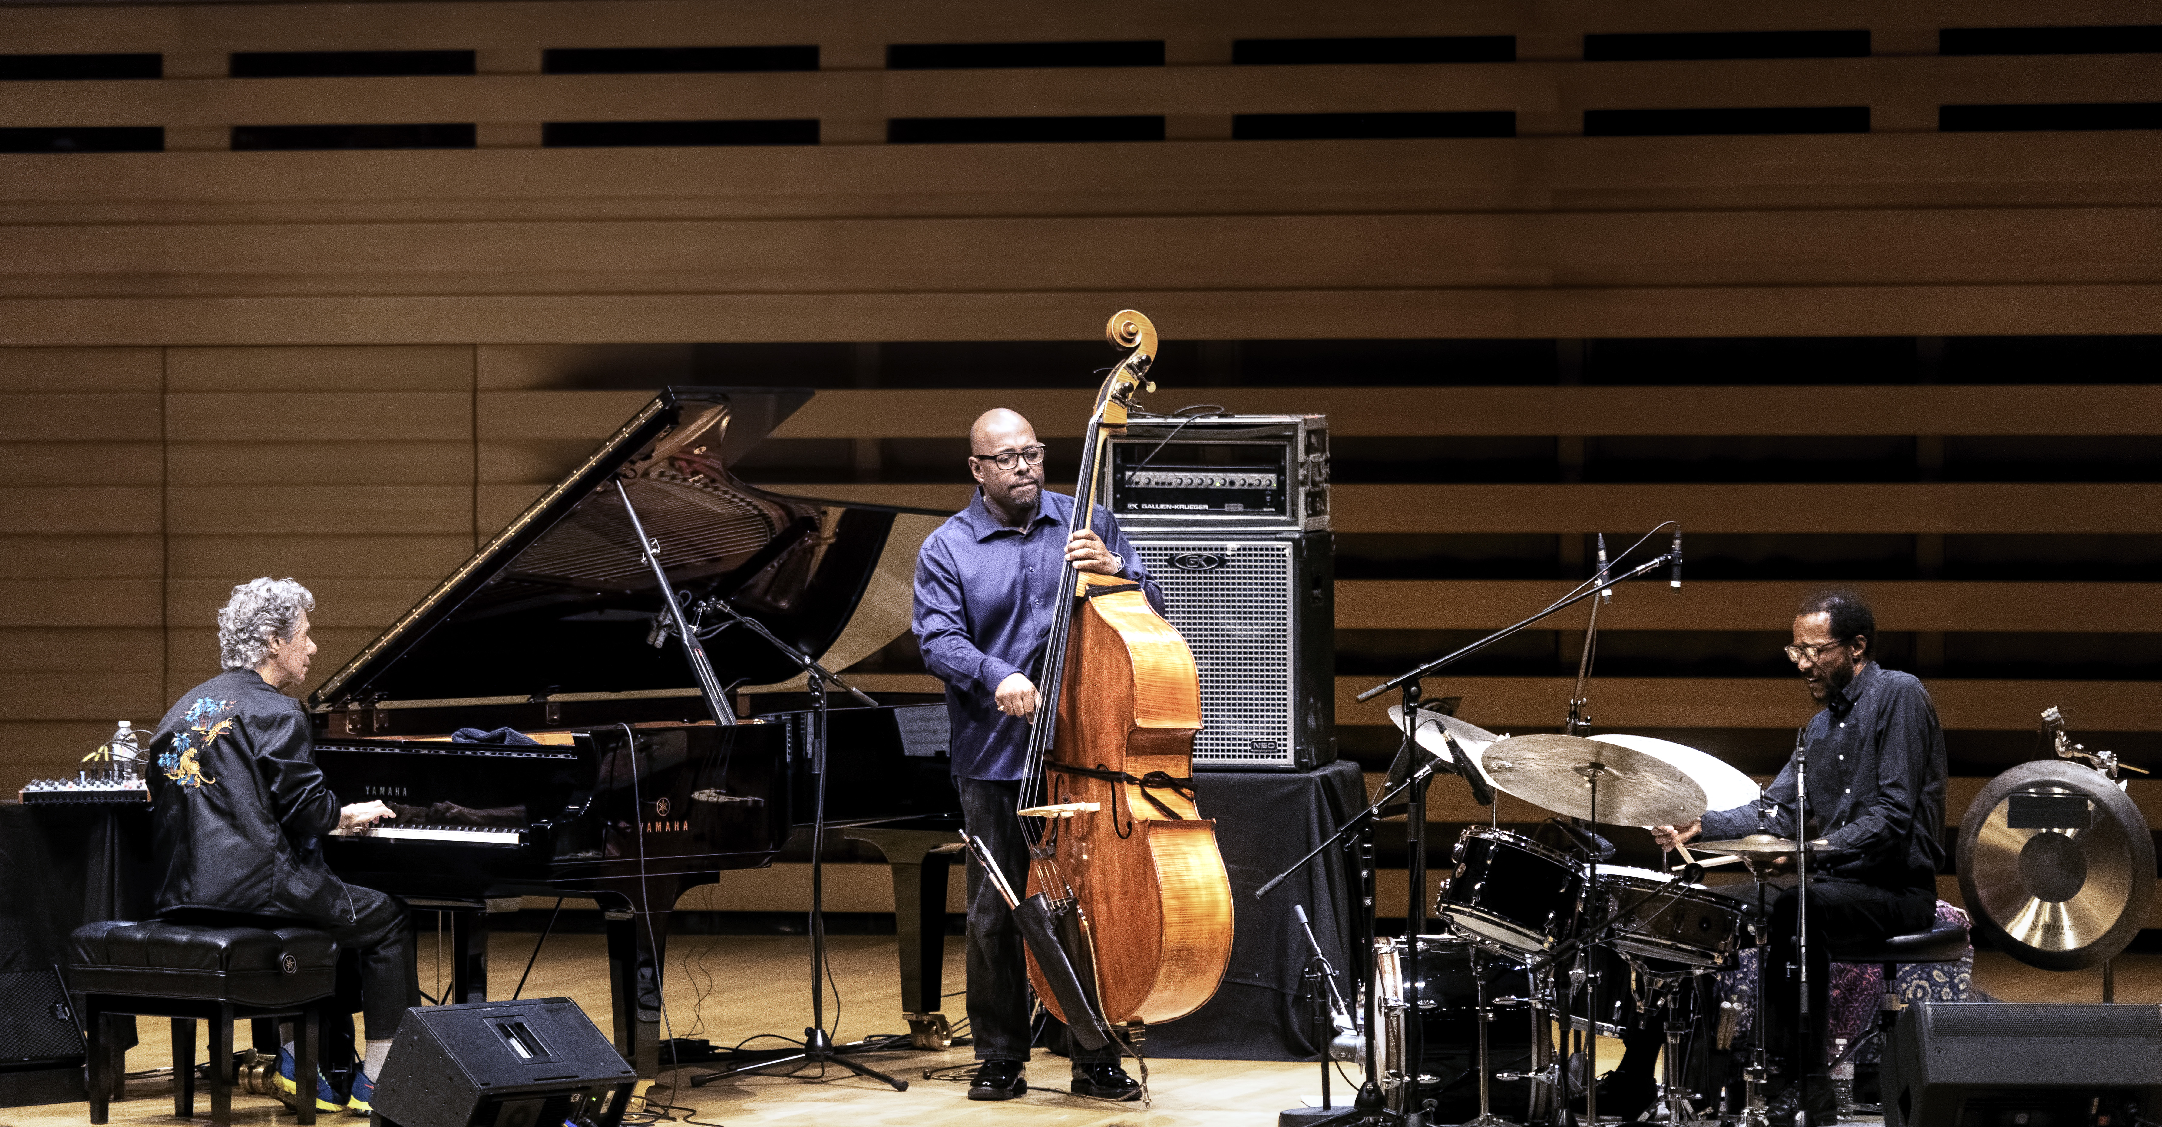
[[[564,693],[696,691],[612,488],[620,477],[668,581],[729,598],[843,669],[908,628],[917,548],[945,514],[772,494],[729,466],[811,399],[798,389],[662,389],[426,598],[309,695],[313,710]],[[798,676],[739,626],[707,656],[726,687]]]

